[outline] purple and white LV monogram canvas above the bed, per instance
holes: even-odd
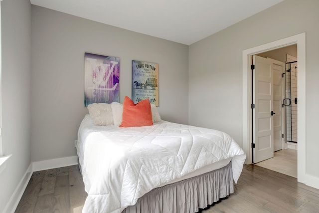
[[[119,102],[120,58],[84,54],[84,106]]]

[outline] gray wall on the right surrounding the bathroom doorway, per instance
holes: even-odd
[[[189,124],[242,145],[242,51],[306,32],[307,174],[319,177],[319,1],[285,0],[189,46]]]

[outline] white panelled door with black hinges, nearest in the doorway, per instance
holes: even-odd
[[[272,62],[253,56],[253,163],[274,157]]]

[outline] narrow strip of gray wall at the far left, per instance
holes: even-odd
[[[0,212],[3,212],[31,163],[30,2],[2,1],[1,22],[2,153],[12,154],[0,173]]]

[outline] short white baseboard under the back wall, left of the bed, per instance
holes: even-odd
[[[67,167],[78,164],[78,157],[71,156],[65,158],[56,158],[45,161],[36,161],[32,163],[33,172],[54,169],[59,167]]]

